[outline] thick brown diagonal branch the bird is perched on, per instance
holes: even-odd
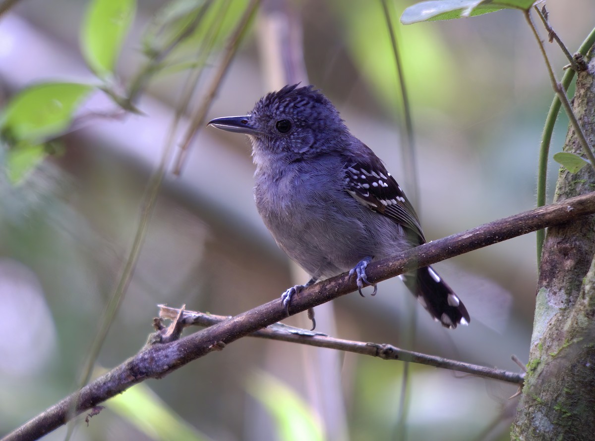
[[[593,213],[595,213],[595,192],[539,207],[506,219],[495,220],[468,231],[419,245],[399,256],[369,264],[366,269],[368,279],[374,283],[380,282],[418,267]],[[355,281],[350,280],[347,273],[315,283],[303,289],[292,299],[291,312],[295,314],[305,311],[356,289]],[[196,358],[203,357],[214,350],[221,350],[226,344],[284,318],[283,305],[280,299],[276,299],[167,344],[160,343],[161,334],[158,333],[145,348],[129,360],[62,399],[5,436],[3,440],[38,439],[62,426],[74,416],[143,380],[162,378]]]

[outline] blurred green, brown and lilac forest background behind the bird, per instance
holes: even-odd
[[[385,160],[407,191],[412,183],[398,178],[402,114],[380,2],[287,3],[303,26],[311,83],[333,100],[353,133]],[[89,91],[81,87],[86,100],[73,109],[71,128],[52,137],[52,144],[24,140],[33,156],[43,147],[48,158],[18,185],[10,173],[0,177],[0,311],[8,330],[0,341],[0,434],[76,388],[129,253],[149,175],[180,111],[189,69],[205,68],[181,128],[201,106],[227,36],[248,2],[205,2],[203,24],[181,44],[176,44],[181,30],[203,13],[202,2],[144,0],[136,13],[134,2],[123,4],[130,6],[130,16],[120,23],[130,23],[130,33],[118,34],[118,28],[109,41],[94,43],[85,34],[93,22],[87,2],[29,0],[0,16],[4,112],[24,87],[46,81],[101,86],[133,111],[114,111],[108,95],[86,96]],[[410,4],[390,4],[394,17]],[[552,0],[547,7],[552,26],[574,51],[593,27],[595,4]],[[244,114],[269,92],[259,41],[265,9],[250,24],[208,118]],[[209,23],[217,26],[214,34]],[[418,212],[427,237],[533,207],[538,144],[553,93],[522,14],[394,23],[412,105]],[[197,48],[207,39],[211,49],[201,55]],[[123,40],[123,49],[112,60],[109,53],[96,59],[80,49],[81,40],[100,48]],[[548,50],[560,78],[566,61],[556,46]],[[142,72],[151,73],[151,81],[134,102],[126,102],[126,91]],[[71,101],[79,103],[81,96]],[[563,117],[558,124],[552,153],[561,149],[566,132]],[[3,135],[5,141],[14,136]],[[253,206],[248,141],[206,129],[190,147],[181,175],[165,176],[98,368],[119,364],[142,347],[158,303],[237,314],[303,282],[292,278]],[[5,169],[12,150],[7,143],[0,150]],[[556,170],[552,163],[550,187]],[[528,356],[534,235],[437,267],[464,299],[469,327],[443,329],[399,281],[387,281],[374,298],[334,301],[334,314],[328,308],[319,314],[318,329],[518,369],[510,356]],[[287,322],[308,326],[303,317]],[[514,386],[422,366],[409,370],[403,407],[400,363],[245,338],[108,401],[89,427],[84,416],[77,420],[71,439],[508,439],[516,401],[507,398]],[[64,439],[65,431],[46,439]]]

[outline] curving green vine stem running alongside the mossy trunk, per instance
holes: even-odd
[[[591,30],[587,38],[578,48],[578,53],[586,55],[588,50],[595,44],[595,28]],[[574,78],[575,71],[567,70],[562,77],[562,86],[568,89],[572,78]],[[539,162],[537,168],[537,206],[541,207],[546,204],[547,197],[547,161],[549,159],[550,143],[552,142],[552,134],[558,113],[560,112],[560,99],[555,95],[550,110],[547,112],[546,123],[543,128],[541,136],[541,146],[539,151]],[[537,266],[541,263],[541,250],[543,249],[543,241],[545,239],[545,231],[543,229],[537,231]]]

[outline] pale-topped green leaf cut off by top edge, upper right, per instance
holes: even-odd
[[[527,11],[534,2],[535,0],[431,0],[419,2],[403,11],[401,23],[474,17],[502,9]]]

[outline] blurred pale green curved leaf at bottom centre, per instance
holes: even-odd
[[[322,441],[320,421],[295,390],[265,372],[253,374],[246,388],[273,416],[281,441]]]

